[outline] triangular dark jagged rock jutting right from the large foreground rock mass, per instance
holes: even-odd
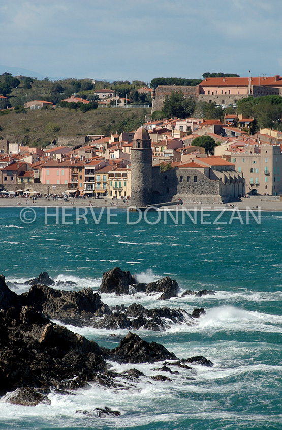
[[[109,355],[113,360],[122,363],[154,363],[176,358],[160,343],[149,343],[132,332],[129,332]]]

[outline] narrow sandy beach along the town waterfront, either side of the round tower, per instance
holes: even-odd
[[[6,197],[6,198],[0,198],[0,207],[4,206],[93,206],[93,207],[103,207],[103,206],[111,206],[113,208],[126,208],[131,206],[131,202],[124,203],[122,200],[114,200],[112,204],[111,198],[103,198],[103,199],[94,199],[94,198],[85,198],[85,199],[76,199],[76,198],[69,198],[68,201],[64,201],[64,199],[58,198],[58,200],[53,200],[52,197],[50,198],[39,198],[38,200],[33,200],[32,198],[19,198],[19,197]],[[233,209],[234,207],[238,208],[239,210],[246,210],[246,208],[250,209],[257,209],[256,207],[260,208],[262,211],[282,211],[282,202],[279,200],[266,200],[264,197],[252,197],[252,198],[242,198],[241,202],[230,202],[227,205],[226,204],[206,204],[202,202],[201,204],[195,204],[193,202],[183,202],[182,206],[174,206],[169,205],[167,206],[169,209],[181,209],[181,208],[187,208],[187,209],[194,209],[197,207],[197,209],[201,208],[207,208],[207,209],[223,209],[223,208],[230,208]],[[158,205],[160,207],[160,205]],[[160,209],[166,208],[166,205],[161,206]]]

